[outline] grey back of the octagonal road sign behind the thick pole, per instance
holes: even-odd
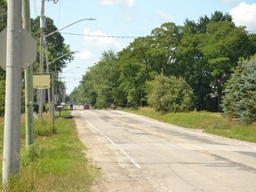
[[[6,28],[0,33],[0,66],[6,70]],[[24,28],[21,30],[21,67],[28,68],[36,60],[36,40]]]

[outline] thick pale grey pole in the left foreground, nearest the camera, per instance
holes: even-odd
[[[9,0],[4,114],[3,185],[20,172],[21,1]]]

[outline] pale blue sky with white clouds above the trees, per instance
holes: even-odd
[[[64,28],[60,32],[65,44],[76,51],[60,74],[67,94],[100,60],[102,52],[120,52],[135,37],[148,36],[165,22],[181,26],[186,19],[197,21],[220,11],[229,13],[236,26],[256,31],[255,0],[45,0],[44,4],[44,15],[57,28]],[[40,14],[41,0],[30,0],[30,16]],[[88,20],[91,18],[96,20]]]

